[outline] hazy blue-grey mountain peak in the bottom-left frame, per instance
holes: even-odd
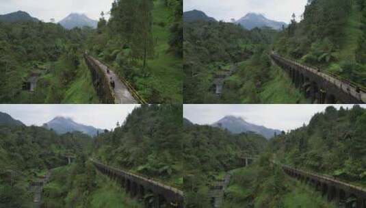
[[[88,135],[94,136],[97,134],[97,132],[103,132],[103,129],[96,129],[92,126],[82,125],[73,121],[71,118],[64,118],[62,116],[57,116],[53,118],[53,120],[45,123],[43,127],[46,129],[53,129],[53,131],[59,134],[80,131]]]

